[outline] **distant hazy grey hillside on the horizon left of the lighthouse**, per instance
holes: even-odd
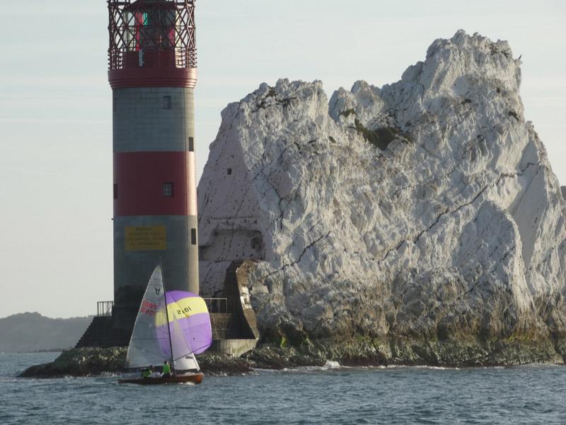
[[[91,321],[92,317],[50,319],[29,312],[4,317],[0,319],[0,352],[73,347]]]

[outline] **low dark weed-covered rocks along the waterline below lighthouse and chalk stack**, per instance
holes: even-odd
[[[33,365],[21,378],[61,378],[125,373],[127,347],[72,348],[63,351],[51,363]],[[416,344],[409,339],[391,340],[354,338],[336,344],[333,341],[309,341],[303,346],[263,344],[236,358],[221,353],[197,356],[207,376],[242,375],[254,369],[322,366],[337,361],[343,366],[429,365],[444,367],[511,366],[528,363],[566,363],[566,341],[427,341]]]

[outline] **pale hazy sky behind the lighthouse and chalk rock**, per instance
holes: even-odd
[[[460,28],[522,55],[521,97],[566,185],[566,2],[197,0],[197,178],[220,112],[262,82],[382,86]],[[0,317],[112,300],[112,92],[104,0],[0,2]]]

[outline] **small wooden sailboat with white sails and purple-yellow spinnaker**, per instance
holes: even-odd
[[[193,293],[166,292],[163,271],[158,264],[151,274],[141,300],[129,341],[126,368],[171,365],[171,376],[124,378],[119,383],[154,385],[193,382],[200,384],[203,374],[195,354],[212,344],[212,327],[207,305]]]

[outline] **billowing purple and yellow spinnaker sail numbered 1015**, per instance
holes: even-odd
[[[171,347],[163,346],[163,352],[173,349],[173,359],[182,358],[187,354],[199,354],[212,344],[212,327],[206,302],[193,293],[172,290],[166,293],[169,332],[171,332]],[[166,333],[165,326],[158,333]],[[161,344],[168,339],[160,339]]]

